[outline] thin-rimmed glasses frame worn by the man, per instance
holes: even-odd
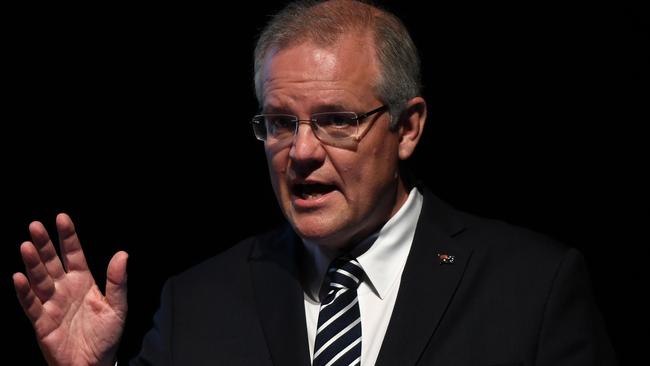
[[[292,114],[282,114],[282,113],[263,113],[263,114],[258,114],[253,116],[253,119],[251,120],[251,125],[253,127],[253,133],[255,134],[255,138],[257,138],[260,141],[266,141],[267,140],[267,127],[264,126],[263,130],[261,125],[263,125],[265,122],[265,119],[268,117],[274,117],[274,116],[284,116],[284,117],[291,117],[291,122],[293,122],[294,125],[294,130],[292,136],[295,136],[296,133],[298,132],[298,127],[301,124],[308,124],[311,127],[312,132],[314,133],[314,136],[321,141],[324,144],[328,145],[333,145],[333,146],[347,146],[350,145],[350,143],[357,144],[361,141],[361,139],[370,131],[370,128],[372,128],[372,125],[374,122],[378,119],[372,119],[370,123],[368,124],[368,127],[364,129],[361,133],[359,133],[360,129],[360,124],[361,121],[364,120],[365,118],[368,118],[372,116],[373,114],[377,113],[383,113],[388,110],[388,105],[384,104],[378,108],[375,108],[373,110],[370,110],[365,113],[357,114],[356,112],[349,112],[349,111],[340,111],[340,112],[324,112],[324,113],[314,113],[309,116],[309,119],[300,119],[296,115]],[[321,132],[321,128],[318,126],[316,123],[317,121],[317,116],[319,115],[325,115],[325,114],[332,114],[332,113],[349,113],[351,115],[354,115],[354,117],[351,117],[350,119],[353,121],[356,121],[357,123],[357,131],[354,135],[352,136],[346,136],[346,137],[334,137],[334,136],[329,136],[329,135],[323,135]],[[262,135],[262,133],[264,135]]]

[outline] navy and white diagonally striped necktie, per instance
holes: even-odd
[[[329,289],[321,302],[313,366],[361,363],[361,314],[357,287],[363,269],[355,258],[341,257],[328,269]]]

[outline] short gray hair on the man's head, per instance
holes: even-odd
[[[310,41],[334,45],[343,35],[371,32],[379,76],[373,89],[387,104],[391,128],[398,125],[406,102],[420,95],[420,59],[404,24],[395,15],[355,0],[303,0],[289,4],[271,18],[255,47],[255,93],[263,105],[262,66],[272,50]]]

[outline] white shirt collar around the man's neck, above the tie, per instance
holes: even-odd
[[[357,257],[366,273],[367,285],[381,299],[396,283],[406,264],[423,200],[422,194],[413,188],[397,213],[350,253]],[[303,244],[307,252],[303,263],[308,287],[305,292],[317,300],[325,272],[334,258],[315,243],[304,240]]]

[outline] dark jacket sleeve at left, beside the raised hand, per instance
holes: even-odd
[[[131,360],[130,366],[171,365],[171,340],[173,332],[173,280],[163,287],[160,308],[153,319],[153,327],[142,341],[140,353]]]

